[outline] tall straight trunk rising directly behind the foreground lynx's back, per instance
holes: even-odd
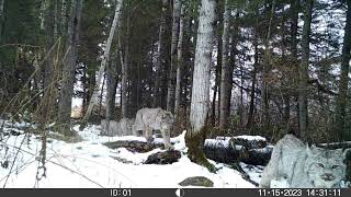
[[[307,139],[308,126],[308,108],[307,108],[307,91],[308,91],[308,65],[309,65],[309,34],[312,9],[314,0],[307,0],[304,13],[304,27],[302,37],[302,62],[298,71],[298,126],[299,136],[303,140]]]

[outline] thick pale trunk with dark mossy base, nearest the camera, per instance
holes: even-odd
[[[203,153],[206,135],[206,121],[210,105],[210,69],[213,49],[215,0],[202,0],[200,8],[199,28],[195,49],[190,124],[185,141],[189,158],[208,170],[213,166]]]

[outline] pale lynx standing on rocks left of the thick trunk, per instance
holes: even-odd
[[[152,130],[160,130],[166,149],[171,149],[170,129],[173,125],[173,115],[162,108],[141,108],[136,113],[133,125],[133,132],[139,136],[138,131],[143,131],[143,136],[148,140],[152,140]]]

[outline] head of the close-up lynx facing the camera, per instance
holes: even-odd
[[[341,149],[327,150],[313,146],[307,147],[307,158],[304,171],[315,187],[338,187],[346,176],[346,151]]]

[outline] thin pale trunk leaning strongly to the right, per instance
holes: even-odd
[[[92,113],[93,106],[97,105],[97,103],[98,103],[99,89],[100,89],[99,85],[100,85],[101,79],[103,77],[103,72],[105,70],[105,67],[109,63],[110,49],[111,49],[112,39],[114,37],[114,33],[115,33],[116,26],[117,26],[118,21],[120,21],[120,13],[121,13],[122,3],[123,3],[123,0],[117,0],[116,1],[116,8],[115,8],[115,12],[114,12],[112,26],[111,26],[111,30],[110,30],[110,35],[109,35],[107,43],[106,43],[106,48],[104,50],[103,58],[102,58],[102,61],[101,61],[101,66],[100,66],[99,72],[98,72],[97,85],[95,85],[94,91],[93,91],[93,93],[91,95],[91,99],[90,99],[90,102],[89,102],[89,106],[88,106],[86,115],[84,115],[84,117],[82,119],[82,124],[81,124],[80,129],[82,129],[86,126],[86,124],[88,123],[88,119],[89,119],[89,117],[90,117],[90,115]]]

